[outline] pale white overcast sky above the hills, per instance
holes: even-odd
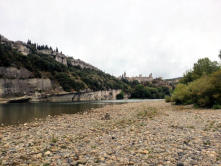
[[[221,0],[0,0],[0,34],[119,76],[182,76],[218,60]]]

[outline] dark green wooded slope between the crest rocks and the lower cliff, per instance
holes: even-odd
[[[86,63],[80,61],[79,65],[72,65],[73,58],[66,57],[57,50],[52,50],[48,46],[38,46],[30,41],[17,46],[12,41],[0,42],[0,66],[25,68],[33,73],[33,78],[49,78],[61,85],[64,91],[108,90],[125,89],[127,85],[114,76],[106,74],[101,70],[91,66],[82,67]],[[25,47],[27,55],[22,54],[19,48]],[[45,50],[49,53],[44,53]],[[58,56],[65,58],[66,64],[56,60]],[[88,65],[88,64],[87,64]]]

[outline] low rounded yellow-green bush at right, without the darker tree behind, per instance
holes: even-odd
[[[221,105],[221,70],[187,85],[178,84],[171,99],[176,104],[194,104],[199,107]]]

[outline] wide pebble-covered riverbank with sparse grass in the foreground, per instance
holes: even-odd
[[[0,165],[220,165],[221,110],[164,101],[0,127]]]

